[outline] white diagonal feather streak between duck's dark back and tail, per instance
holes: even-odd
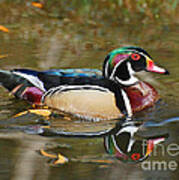
[[[29,75],[29,74],[25,74],[25,73],[21,73],[21,72],[15,72],[13,71],[13,74],[16,74],[18,76],[21,76],[25,79],[27,79],[29,82],[31,82],[34,86],[38,87],[39,89],[41,89],[42,91],[46,91],[43,85],[43,82],[40,81],[40,79],[38,77]]]

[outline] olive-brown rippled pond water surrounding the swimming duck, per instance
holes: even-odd
[[[34,13],[34,12],[33,12]],[[0,32],[0,54],[8,57],[0,59],[1,69],[11,68],[98,68],[109,50],[124,46],[137,45],[146,49],[155,62],[170,71],[169,76],[141,73],[139,76],[151,83],[159,92],[161,100],[155,107],[135,115],[136,119],[160,123],[179,116],[179,76],[178,76],[178,25],[177,24],[100,24],[79,25],[69,19],[58,20],[38,15],[19,18],[6,18],[9,33]],[[2,22],[5,23],[1,17]],[[0,121],[5,122],[18,112],[27,110],[26,102],[15,100],[0,87]],[[15,123],[15,125],[18,124]],[[20,124],[20,123],[19,123]],[[30,124],[30,123],[29,123]],[[54,126],[73,131],[89,131],[110,127],[114,122],[87,123],[54,120]],[[158,148],[148,162],[177,162],[175,156],[167,153],[171,144],[179,147],[178,120],[165,126],[151,127],[147,135],[167,132],[169,138]],[[178,168],[142,168],[142,163],[126,164],[114,160],[112,164],[86,161],[93,157],[106,155],[103,138],[49,138],[12,131],[5,126],[0,131],[0,179],[178,179]],[[84,161],[70,161],[54,166],[49,159],[41,156],[42,148],[60,152],[68,158],[80,157]],[[163,152],[163,154],[162,154]]]

